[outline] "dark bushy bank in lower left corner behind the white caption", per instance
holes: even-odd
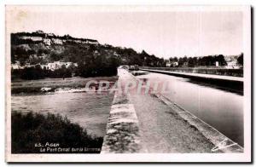
[[[11,124],[12,153],[100,153],[102,148],[102,137],[60,115],[12,112]]]

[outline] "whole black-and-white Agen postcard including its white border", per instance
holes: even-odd
[[[7,162],[250,162],[250,6],[5,7]]]

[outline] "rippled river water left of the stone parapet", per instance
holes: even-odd
[[[59,113],[81,125],[91,135],[104,136],[113,94],[55,93],[13,95],[12,111]]]

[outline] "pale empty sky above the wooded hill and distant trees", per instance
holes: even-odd
[[[32,9],[32,7],[30,7]],[[150,55],[183,57],[239,55],[242,12],[13,9],[7,15],[12,32],[53,32],[96,39]]]

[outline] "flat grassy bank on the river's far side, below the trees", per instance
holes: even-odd
[[[55,89],[59,88],[72,88],[79,89],[84,88],[85,84],[90,80],[96,81],[108,81],[115,82],[117,77],[97,77],[97,78],[45,78],[38,80],[15,80],[11,83],[11,93],[15,94],[38,94],[44,93],[41,91],[42,88],[50,88],[49,92],[54,92]],[[92,85],[92,84],[91,84]]]

